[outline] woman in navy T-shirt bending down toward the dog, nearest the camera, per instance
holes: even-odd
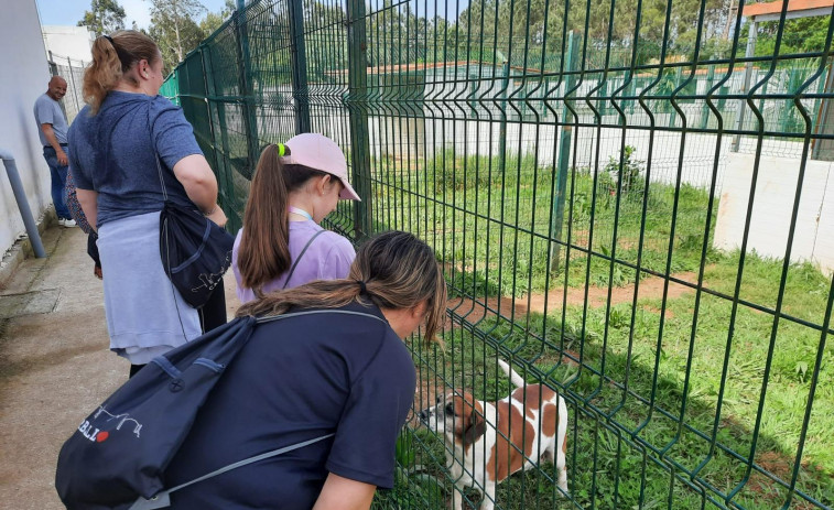
[[[414,398],[402,339],[433,339],[446,287],[432,249],[387,232],[347,279],[314,281],[243,305],[261,322],[197,415],[166,486],[264,452],[333,437],[172,495],[172,508],[367,509],[393,486],[394,444]],[[285,313],[306,312],[281,319]],[[334,313],[335,312],[335,313]]]

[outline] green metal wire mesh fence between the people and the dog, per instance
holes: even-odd
[[[570,493],[530,458],[497,508],[831,508],[834,13],[750,37],[744,10],[256,1],[169,94],[230,228],[262,144],[316,131],[362,197],[329,228],[434,247],[450,321],[409,344],[415,410],[506,397],[498,358],[564,395]],[[445,508],[452,454],[412,420],[375,504]]]

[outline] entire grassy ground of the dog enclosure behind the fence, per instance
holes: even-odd
[[[517,370],[529,370],[528,380],[543,379],[570,397],[572,498],[557,497],[553,467],[545,465],[501,484],[500,508],[781,508],[788,490],[775,479],[790,484],[793,476],[830,279],[810,264],[789,265],[781,297],[781,313],[789,317],[775,327],[784,264],[750,253],[741,265],[739,253],[707,249],[703,287],[710,292],[701,294],[697,313],[695,291],[676,284],[669,285],[665,302],[662,287],[647,291],[649,284],[641,284],[633,307],[626,285],[637,279],[628,263],[637,263],[642,196],[621,196],[619,206],[616,192],[594,198],[592,176],[573,172],[562,234],[565,240],[571,236],[571,258],[565,264],[563,248],[554,274],[548,271],[546,241],[518,230],[548,235],[552,169],[539,169],[527,156],[508,159],[508,172],[496,175],[486,159],[450,151],[429,162],[376,165],[375,217],[434,246],[452,295],[464,299],[457,313],[469,313],[464,322],[469,326],[456,323],[446,333],[445,349],[412,344],[423,390],[415,408],[447,388],[467,388],[488,400],[505,397],[510,387],[496,366],[498,352],[511,357]],[[597,189],[610,191],[610,183],[598,177]],[[713,225],[706,228],[707,193],[653,183],[648,193],[641,267],[661,274],[668,269],[696,284],[704,232],[713,231]],[[714,218],[717,202],[713,207]],[[587,258],[578,248],[587,248],[592,228],[596,254]],[[624,287],[627,299],[608,306],[609,284]],[[604,292],[587,304],[570,297],[563,303],[565,285],[571,292],[585,286]],[[484,296],[530,294],[546,295],[555,306],[546,316],[513,311],[511,301],[500,315],[484,308]],[[830,340],[821,359],[797,489],[827,508],[834,504]],[[420,428],[409,430],[404,441],[410,454],[403,465],[422,469],[402,470],[397,489],[378,498],[377,508],[443,508],[437,500],[454,489],[444,478],[442,441]],[[748,459],[765,473],[747,477]],[[694,489],[686,484],[693,474]],[[426,482],[425,475],[441,481]],[[820,507],[794,497],[789,508]]]

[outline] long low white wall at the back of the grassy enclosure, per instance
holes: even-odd
[[[450,117],[452,115],[453,112],[450,112]],[[662,116],[657,117],[663,119]],[[592,124],[593,119],[584,121]],[[347,121],[342,123],[349,126]],[[368,124],[370,149],[376,158],[383,154],[400,159],[422,158],[426,153],[432,158],[451,148],[454,148],[459,156],[497,158],[501,147],[499,121],[370,116]],[[508,122],[503,142],[508,154],[537,154],[539,163],[548,166],[559,161],[560,137],[561,129],[554,126]],[[710,189],[715,181],[716,193],[721,191],[728,155],[732,154],[733,139],[728,135],[723,137],[719,142],[715,134],[687,133],[684,139],[680,132],[668,130],[651,133],[648,129],[597,129],[583,126],[573,130],[568,161],[571,164],[575,161],[578,169],[599,172],[611,158],[619,160],[624,137],[626,145],[635,148],[632,158],[641,161],[643,169],[651,163],[652,182],[674,184],[680,171],[683,184]],[[349,137],[346,135],[345,139],[349,140]],[[745,138],[739,150],[741,153],[750,154],[756,152],[756,139]],[[784,140],[763,140],[761,151],[763,154],[779,154],[798,160],[802,153],[802,144]]]

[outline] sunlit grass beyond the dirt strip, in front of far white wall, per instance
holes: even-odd
[[[713,230],[713,225],[706,228],[705,191],[681,186],[672,215],[675,187],[652,183],[641,228],[643,186],[619,194],[618,202],[608,173],[602,172],[595,183],[586,170],[573,169],[565,185],[561,234],[567,246],[560,248],[562,270],[552,272],[555,256],[548,238],[557,224],[554,170],[537,164],[530,154],[508,156],[505,166],[501,172],[496,159],[462,158],[452,150],[429,160],[376,160],[371,163],[375,216],[388,228],[421,234],[450,264],[453,286],[465,284],[457,281],[465,273],[516,296],[563,285],[565,279],[571,286],[586,280],[593,285],[610,280],[621,286],[636,280],[637,272],[628,264],[636,265],[638,258],[646,270],[665,272],[667,264],[671,272],[697,270],[704,232]],[[716,211],[717,200],[713,223]],[[670,242],[673,256],[668,261]],[[708,250],[708,254],[714,253]],[[462,291],[472,294],[469,289]]]

